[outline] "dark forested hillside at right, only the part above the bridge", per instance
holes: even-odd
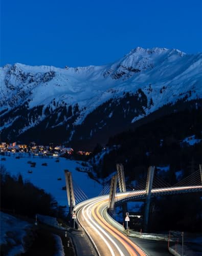
[[[106,154],[94,169],[100,178],[115,172],[116,163],[123,163],[128,180],[147,174],[149,165],[169,165],[165,180],[177,182],[174,173],[183,170],[183,177],[198,169],[201,163],[201,143],[190,146],[183,140],[189,136],[201,139],[201,109],[186,109],[123,132],[108,141],[119,145]],[[98,148],[98,145],[96,146]]]

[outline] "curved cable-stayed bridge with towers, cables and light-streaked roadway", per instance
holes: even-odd
[[[79,204],[75,203],[76,206],[73,210],[77,215],[77,223],[85,230],[98,255],[146,255],[138,245],[125,236],[123,233],[125,228],[111,218],[115,205],[124,205],[128,201],[145,199],[144,228],[146,230],[151,197],[202,191],[201,165],[196,172],[174,185],[170,185],[158,177],[154,170],[155,167],[150,166],[147,178],[140,180],[136,187],[131,187],[125,185],[123,166],[119,164],[117,165],[117,174],[112,177],[110,184],[106,184],[98,197]],[[68,187],[73,188],[73,182],[72,185],[70,179],[68,182],[69,185],[66,183],[67,192]],[[78,188],[76,190],[76,198],[79,195],[81,199],[81,191],[79,190],[78,194]],[[68,195],[71,202],[73,197],[70,191]],[[69,206],[71,208],[73,205]]]

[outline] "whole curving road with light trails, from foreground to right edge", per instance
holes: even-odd
[[[186,186],[171,188],[155,188],[152,194],[175,193],[193,189],[202,189],[202,186]],[[118,193],[118,200],[122,200],[130,194],[131,191]],[[139,190],[137,196],[144,195],[145,190]],[[94,244],[98,255],[100,256],[127,256],[127,255],[147,255],[138,245],[134,244],[121,231],[111,226],[104,218],[103,212],[106,211],[109,196],[100,196],[86,200],[77,206],[74,210],[77,213],[77,220],[84,228],[88,237]]]

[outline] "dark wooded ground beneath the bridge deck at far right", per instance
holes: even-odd
[[[153,198],[149,230],[185,230],[200,232],[201,193],[187,193]]]

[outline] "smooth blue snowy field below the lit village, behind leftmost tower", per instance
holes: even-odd
[[[16,156],[20,156],[20,159],[16,159]],[[76,167],[82,167],[81,162],[65,158],[57,158],[59,162],[56,162],[53,157],[29,157],[26,153],[11,154],[5,156],[5,158],[6,161],[2,161],[2,163],[10,174],[18,176],[20,173],[24,180],[29,180],[35,186],[43,188],[62,206],[68,204],[66,190],[62,190],[62,187],[65,186],[64,169],[69,169],[72,172],[73,181],[88,198],[98,196],[102,190],[102,186],[98,182],[89,178],[86,173],[76,170]],[[36,167],[31,168],[28,161],[36,162]],[[42,166],[42,163],[47,163],[47,166]],[[33,173],[29,174],[28,170],[32,170]],[[58,178],[61,178],[61,180],[57,180]]]

